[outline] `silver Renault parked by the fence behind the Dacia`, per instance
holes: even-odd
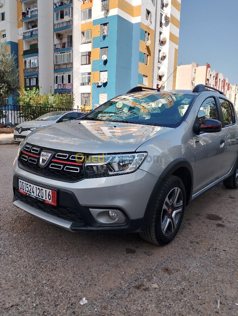
[[[32,121],[23,122],[15,127],[14,130],[14,141],[22,142],[24,138],[27,137],[32,131],[39,128],[46,127],[47,125],[69,121],[72,119],[78,119],[85,113],[76,111],[58,111],[50,112],[41,115],[39,118]]]

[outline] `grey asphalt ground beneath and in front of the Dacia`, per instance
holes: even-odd
[[[237,190],[220,184],[189,204],[164,247],[70,233],[12,205],[16,153],[0,146],[0,315],[238,314]]]

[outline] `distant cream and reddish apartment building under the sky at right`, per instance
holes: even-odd
[[[222,73],[211,70],[210,64],[200,66],[194,62],[180,65],[177,69],[176,89],[192,90],[197,84],[204,84],[222,91],[235,105],[238,111],[238,86],[229,83]]]

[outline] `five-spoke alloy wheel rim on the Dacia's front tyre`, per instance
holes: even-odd
[[[237,169],[238,181],[238,169]],[[161,229],[165,236],[173,234],[178,226],[183,209],[183,195],[180,188],[173,188],[167,195],[161,214]]]

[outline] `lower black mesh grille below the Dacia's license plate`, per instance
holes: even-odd
[[[14,196],[18,200],[36,208],[37,210],[43,211],[53,216],[57,216],[66,221],[73,222],[74,224],[78,226],[82,226],[84,224],[78,210],[74,208],[70,208],[70,207],[62,206],[62,205],[53,206],[53,205],[46,204],[32,197],[21,194],[16,188],[13,188],[13,192],[14,192]]]

